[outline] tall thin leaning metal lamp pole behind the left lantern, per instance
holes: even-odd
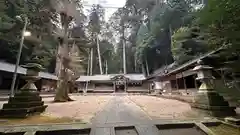
[[[19,65],[19,62],[20,62],[21,54],[22,54],[24,33],[26,31],[26,28],[27,28],[27,17],[24,17],[24,27],[23,27],[23,30],[22,30],[21,42],[20,42],[20,46],[19,46],[19,50],[18,50],[18,54],[17,54],[17,61],[16,61],[14,74],[13,74],[13,79],[12,79],[12,84],[11,84],[11,91],[10,91],[10,97],[14,96],[14,87],[15,87],[15,83],[16,83],[16,79],[17,79],[17,69],[18,69],[18,65]]]

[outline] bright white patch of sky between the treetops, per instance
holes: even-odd
[[[88,5],[101,4],[105,8],[105,20],[107,21],[111,15],[117,10],[117,8],[109,7],[123,7],[126,0],[84,0],[84,12],[87,14]],[[108,7],[108,8],[107,8]]]

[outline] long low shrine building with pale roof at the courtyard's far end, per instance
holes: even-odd
[[[149,92],[149,83],[143,74],[108,74],[80,76],[76,83],[79,92]]]

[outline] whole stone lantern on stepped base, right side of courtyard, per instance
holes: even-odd
[[[197,63],[198,65],[193,70],[197,72],[196,79],[200,80],[202,84],[196,95],[194,95],[194,101],[191,107],[211,116],[235,115],[235,107],[230,107],[228,102],[214,89],[213,68],[204,65],[202,60],[199,60]]]

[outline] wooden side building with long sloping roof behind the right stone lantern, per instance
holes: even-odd
[[[196,80],[197,72],[193,71],[199,60],[204,60],[206,64],[215,67],[213,75],[215,78],[218,78],[216,81],[220,80],[221,75],[218,74],[219,67],[216,67],[213,62],[216,61],[213,56],[220,50],[221,48],[203,54],[181,65],[173,63],[164,66],[156,70],[153,75],[148,76],[146,80],[153,81],[154,90],[161,93],[194,94],[198,91],[201,84],[200,81]]]

